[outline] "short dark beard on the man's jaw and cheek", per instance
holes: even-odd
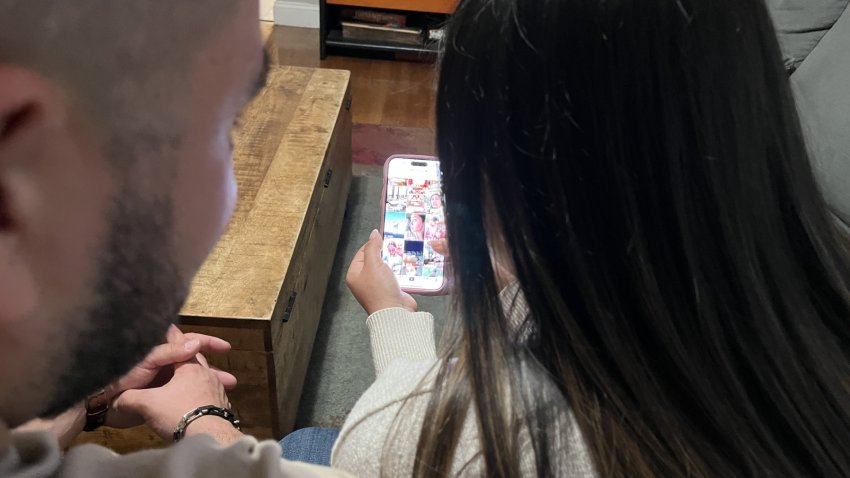
[[[61,372],[42,416],[62,413],[127,373],[163,341],[186,298],[172,260],[170,201],[146,202],[125,191],[109,225],[95,302],[65,322],[84,325],[64,331],[72,348],[53,357]]]

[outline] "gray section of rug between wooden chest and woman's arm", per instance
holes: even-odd
[[[375,380],[366,313],[345,285],[351,258],[380,224],[382,169],[355,165],[322,318],[301,396],[296,428],[340,427],[360,395]],[[419,310],[431,312],[440,329],[447,297],[416,296]]]

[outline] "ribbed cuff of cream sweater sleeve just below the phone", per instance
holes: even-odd
[[[410,312],[401,307],[384,309],[369,316],[366,324],[378,377],[398,359],[425,362],[437,358],[434,317],[427,312]]]

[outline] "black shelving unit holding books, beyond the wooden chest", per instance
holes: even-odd
[[[389,41],[344,38],[342,35],[342,19],[340,14],[343,8],[358,8],[405,15],[409,27],[423,29],[422,43],[420,45],[411,45]],[[320,0],[320,55],[323,60],[328,55],[368,56],[390,59],[395,58],[397,55],[404,55],[405,59],[410,59],[412,56],[423,61],[433,60],[436,58],[439,45],[437,42],[427,39],[428,28],[438,27],[445,23],[447,19],[448,15],[440,13],[333,5],[328,4],[326,0]]]

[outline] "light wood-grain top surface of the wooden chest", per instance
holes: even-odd
[[[349,73],[273,67],[235,132],[239,196],[182,316],[269,320],[304,226]]]

